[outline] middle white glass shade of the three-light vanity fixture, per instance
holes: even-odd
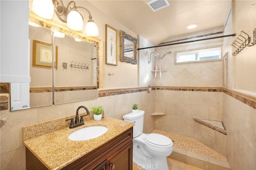
[[[70,11],[67,17],[67,25],[72,30],[75,30],[75,31],[82,30],[84,23],[83,23],[83,18],[81,14],[76,10]]]

